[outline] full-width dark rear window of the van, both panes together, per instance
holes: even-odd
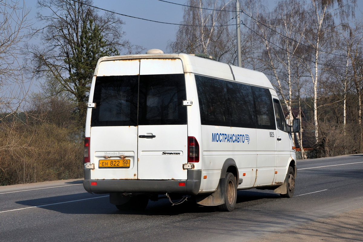
[[[91,126],[187,124],[184,74],[97,77]]]

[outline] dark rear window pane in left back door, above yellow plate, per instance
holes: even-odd
[[[138,76],[97,77],[91,126],[136,126]]]

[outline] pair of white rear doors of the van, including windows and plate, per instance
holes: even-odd
[[[101,62],[91,115],[91,179],[187,179],[183,100],[179,59]]]

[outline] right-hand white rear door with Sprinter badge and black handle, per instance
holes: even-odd
[[[179,59],[140,61],[138,179],[185,180],[187,107]]]

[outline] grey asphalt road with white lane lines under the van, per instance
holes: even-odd
[[[81,180],[0,187],[0,241],[255,241],[363,207],[363,155],[297,165],[293,198],[238,191],[233,212],[166,199],[121,212]]]

